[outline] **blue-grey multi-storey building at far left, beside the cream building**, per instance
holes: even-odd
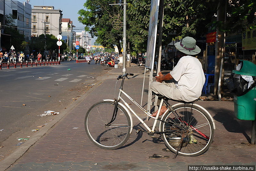
[[[30,41],[31,37],[31,5],[26,2],[5,1],[5,14],[12,14],[14,27],[20,34],[25,35],[25,40]]]

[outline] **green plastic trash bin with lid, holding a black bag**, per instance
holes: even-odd
[[[233,70],[232,73],[239,75],[256,76],[256,65],[250,61],[239,60],[240,70]],[[256,87],[252,88],[243,96],[234,96],[235,114],[240,120],[256,119]]]

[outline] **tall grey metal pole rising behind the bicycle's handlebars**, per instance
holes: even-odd
[[[124,0],[124,27],[123,27],[123,75],[126,73],[126,0]]]

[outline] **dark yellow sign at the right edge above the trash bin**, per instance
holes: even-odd
[[[256,29],[247,27],[246,32],[242,33],[242,50],[256,49]]]

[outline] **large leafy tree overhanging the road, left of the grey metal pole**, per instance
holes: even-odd
[[[121,41],[122,29],[115,30],[112,22],[115,19],[123,20],[121,0],[87,0],[84,8],[78,11],[78,21],[86,25],[85,30],[90,32],[92,38],[97,37],[96,42],[104,47],[114,48],[116,45],[119,54],[122,54]]]

